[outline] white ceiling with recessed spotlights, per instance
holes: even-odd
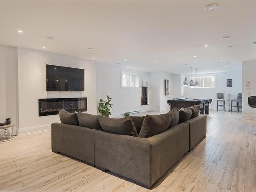
[[[209,3],[219,7],[205,11]],[[254,0],[0,0],[0,44],[142,71],[181,73],[184,63],[188,73],[240,70],[256,59],[255,7]]]

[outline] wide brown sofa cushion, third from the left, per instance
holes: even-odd
[[[117,119],[100,115],[98,119],[99,124],[104,131],[138,137],[138,132],[131,117]]]

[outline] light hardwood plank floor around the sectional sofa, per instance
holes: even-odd
[[[52,153],[50,131],[2,142],[0,154],[0,191],[148,191]],[[241,113],[211,111],[206,139],[151,191],[256,191],[255,156],[256,121],[242,120]]]

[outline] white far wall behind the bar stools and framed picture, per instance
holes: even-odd
[[[213,102],[210,104],[210,108],[213,110],[216,110],[216,93],[234,93],[235,95],[231,96],[230,99],[237,98],[237,94],[242,93],[242,70],[223,73],[199,74],[198,77],[199,76],[215,76],[215,88],[190,88],[189,86],[183,86],[184,97],[210,98],[213,100]],[[189,80],[190,76],[187,76],[187,78]],[[227,79],[233,79],[233,87],[227,87]],[[228,97],[227,95],[224,96],[226,99],[226,110],[228,110]],[[236,109],[234,108],[234,110]]]

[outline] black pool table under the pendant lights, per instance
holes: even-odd
[[[173,99],[168,100],[170,109],[173,108],[187,108],[188,106],[200,105],[200,114],[209,114],[209,105],[212,99]]]

